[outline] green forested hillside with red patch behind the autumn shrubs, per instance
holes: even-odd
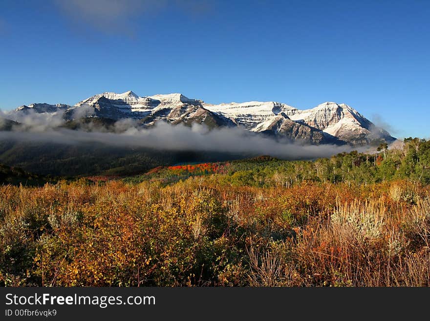
[[[381,144],[375,153],[352,151],[314,161],[284,161],[269,156],[215,164],[159,167],[126,179],[173,182],[189,176],[220,174],[236,185],[291,187],[303,181],[371,184],[392,179],[430,183],[430,140],[407,138],[399,148]]]

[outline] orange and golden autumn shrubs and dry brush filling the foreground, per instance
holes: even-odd
[[[0,186],[1,285],[430,285],[428,186],[217,175]]]

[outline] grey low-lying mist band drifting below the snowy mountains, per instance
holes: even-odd
[[[42,142],[79,145],[100,143],[121,148],[149,148],[155,150],[243,153],[270,155],[281,159],[313,159],[329,157],[352,150],[350,146],[306,145],[287,139],[275,139],[241,128],[215,128],[194,124],[170,125],[163,121],[150,128],[143,128],[136,120],[122,119],[108,131],[87,124],[86,129],[71,130],[64,125],[62,115],[29,113],[19,119],[20,126],[11,131],[0,131],[0,140]]]

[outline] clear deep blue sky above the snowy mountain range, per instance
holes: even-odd
[[[348,104],[430,137],[430,1],[3,0],[0,108],[104,91]]]

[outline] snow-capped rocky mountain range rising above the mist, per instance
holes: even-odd
[[[179,93],[139,97],[132,91],[122,94],[105,92],[89,97],[74,106],[31,104],[11,113],[64,113],[72,121],[85,117],[109,120],[133,118],[150,127],[157,121],[173,125],[206,124],[210,128],[238,126],[245,130],[312,144],[367,144],[375,140],[394,140],[387,131],[370,122],[354,108],[326,102],[300,110],[279,102],[246,102],[213,105],[190,99]],[[15,117],[14,117],[15,116]]]

